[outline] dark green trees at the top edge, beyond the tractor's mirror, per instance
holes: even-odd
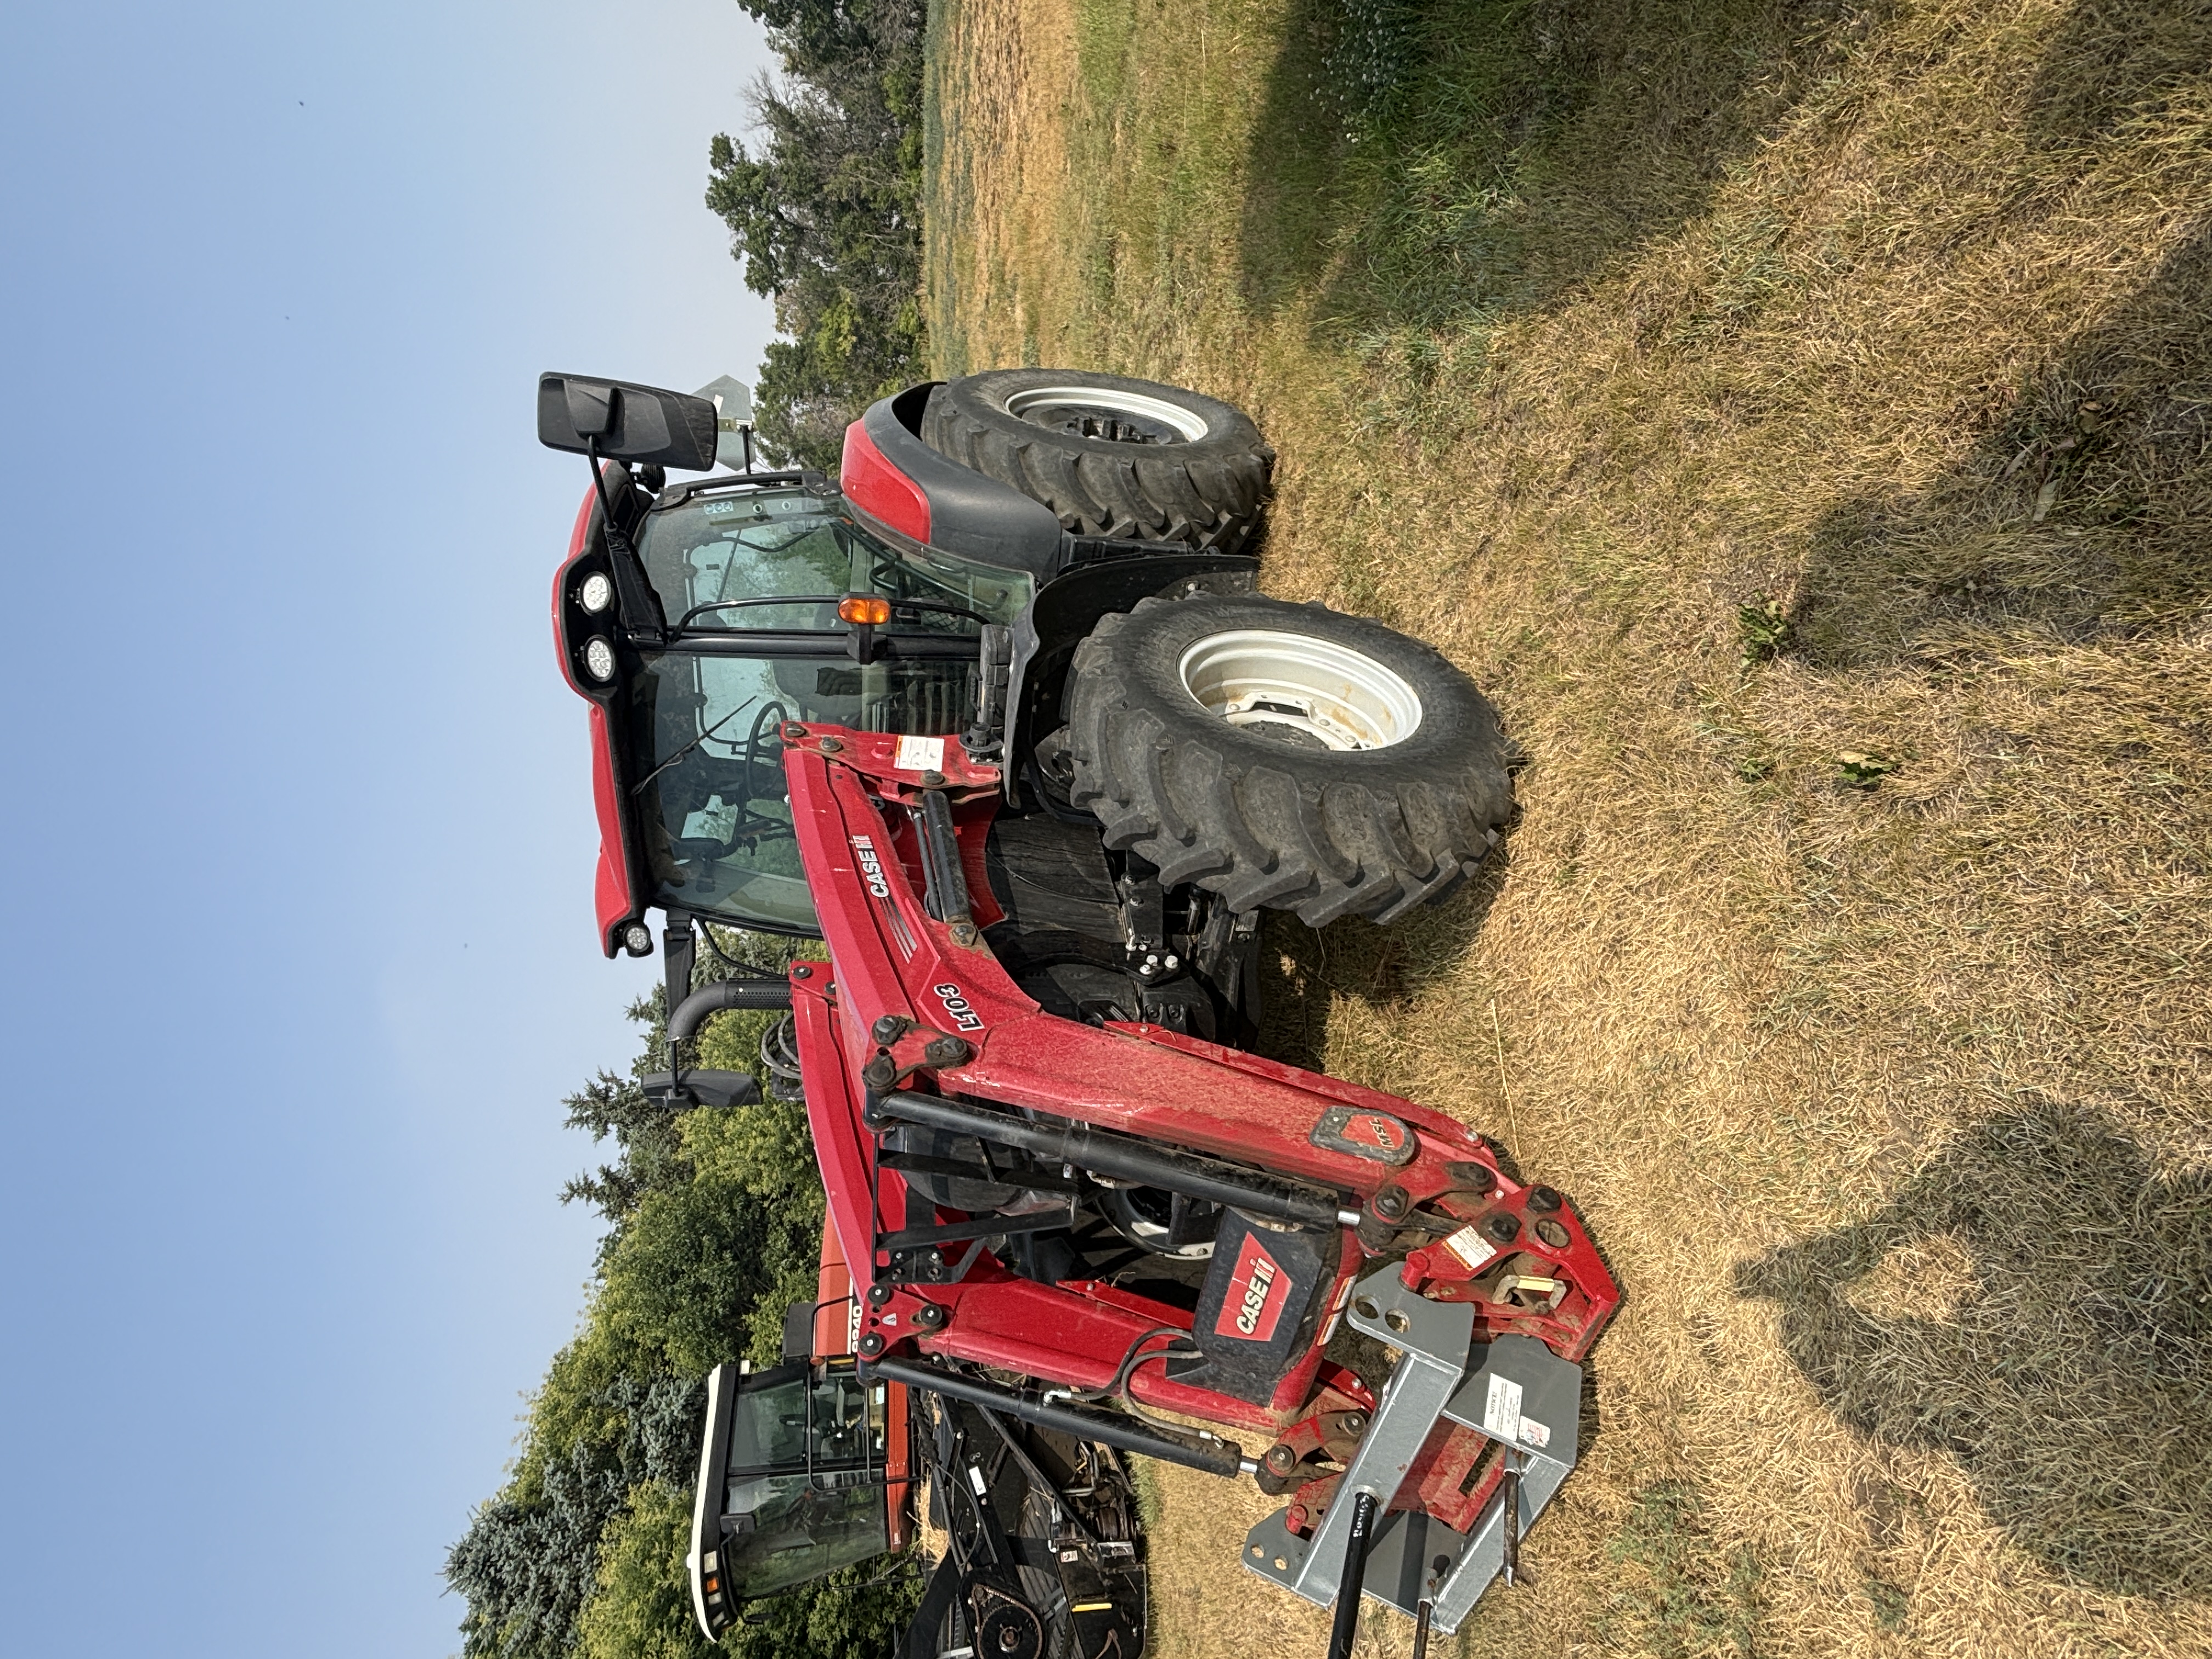
[[[845,425],[927,378],[922,327],[925,0],[739,0],[783,75],[748,144],[717,135],[706,201],[776,330],[754,387],[776,462],[836,471]]]

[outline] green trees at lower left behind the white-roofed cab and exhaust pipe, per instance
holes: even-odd
[[[763,964],[790,940],[721,933]],[[714,973],[717,969],[708,969]],[[520,1455],[447,1557],[467,1601],[467,1659],[854,1659],[889,1652],[918,1599],[911,1573],[863,1562],[748,1610],[719,1648],[692,1621],[692,1482],[706,1374],[774,1365],[783,1310],[812,1301],[823,1188],[805,1108],[774,1097],[666,1113],[639,1079],[668,1068],[661,991],[630,1006],[626,1073],[568,1097],[568,1126],[613,1144],[566,1199],[606,1221],[584,1327],[531,1398]],[[690,1064],[761,1075],[774,1013],[723,1013]],[[765,1082],[765,1079],[763,1079]]]

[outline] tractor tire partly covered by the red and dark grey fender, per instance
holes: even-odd
[[[987,369],[938,387],[922,442],[1013,484],[1073,535],[1245,551],[1274,449],[1241,409],[1079,369]]]

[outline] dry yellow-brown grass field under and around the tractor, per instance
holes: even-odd
[[[2212,7],[947,0],[927,153],[940,372],[1243,403],[1524,754],[1272,936],[1628,1292],[1440,1648],[2212,1652]],[[1318,1655],[1157,1484],[1155,1650]]]

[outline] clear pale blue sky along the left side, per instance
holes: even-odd
[[[540,369],[752,378],[730,0],[24,4],[0,1650],[445,1655],[624,1064]]]

